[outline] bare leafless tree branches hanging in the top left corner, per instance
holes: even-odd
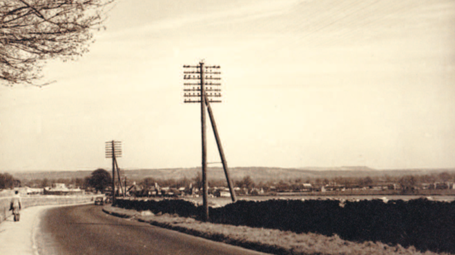
[[[0,0],[2,83],[36,85],[46,59],[74,60],[86,53],[113,1]]]

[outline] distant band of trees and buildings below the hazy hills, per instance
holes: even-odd
[[[97,169],[83,178],[71,179],[33,179],[33,180],[17,180],[14,176],[8,173],[0,174],[0,189],[8,189],[13,187],[49,187],[52,183],[64,183],[67,187],[79,187],[81,189],[92,188],[94,190],[103,190],[105,187],[110,187],[112,183],[111,174],[104,169]],[[102,183],[100,185],[99,183]],[[160,187],[192,187],[202,188],[202,174],[197,172],[193,178],[183,177],[180,179],[160,179],[154,177],[146,177],[144,179],[128,179],[126,185],[139,185],[140,187],[150,187],[159,185]],[[255,181],[251,176],[244,176],[242,179],[234,179],[235,187],[246,188],[251,190],[256,187],[258,189],[270,190],[275,187],[277,190],[299,190],[303,183],[309,183],[313,187],[322,187],[327,185],[343,186],[343,187],[368,187],[374,185],[397,185],[402,190],[413,190],[415,187],[423,184],[434,183],[455,183],[455,172],[440,172],[433,174],[407,174],[403,176],[366,176],[366,177],[345,177],[338,176],[333,178],[296,178],[296,179],[276,179],[269,181]],[[227,187],[226,180],[209,179],[209,187]]]

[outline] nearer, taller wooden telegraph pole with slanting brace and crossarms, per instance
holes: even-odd
[[[226,181],[231,192],[231,199],[235,202],[235,192],[233,190],[232,181],[229,178],[229,172],[227,168],[226,159],[224,158],[224,152],[222,149],[220,136],[218,135],[215,119],[213,112],[210,107],[210,103],[220,103],[221,100],[221,83],[220,83],[220,66],[206,66],[204,61],[201,61],[199,65],[184,65],[184,79],[190,80],[184,83],[184,102],[185,103],[201,103],[201,131],[202,131],[202,183],[203,183],[203,206],[204,206],[204,219],[209,220],[209,203],[208,194],[209,187],[207,182],[207,151],[206,151],[206,107],[209,111],[209,117],[212,124],[213,133],[217,142],[218,151],[222,160],[224,174],[226,175]],[[193,81],[191,81],[193,80]],[[207,88],[206,88],[207,87]],[[217,99],[218,98],[218,99]]]

